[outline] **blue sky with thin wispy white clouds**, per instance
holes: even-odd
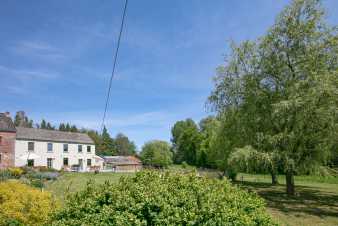
[[[106,126],[138,148],[199,121],[230,41],[264,35],[289,0],[129,0]],[[123,0],[0,1],[0,112],[100,129]],[[338,1],[324,0],[338,24]]]

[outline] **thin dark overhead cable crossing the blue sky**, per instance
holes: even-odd
[[[121,21],[121,26],[120,26],[120,32],[119,32],[119,37],[118,37],[117,45],[116,45],[116,49],[115,49],[113,70],[112,70],[112,73],[111,73],[111,76],[110,76],[110,80],[109,80],[109,86],[108,86],[106,104],[105,104],[105,107],[104,107],[104,113],[103,113],[103,118],[102,118],[101,133],[102,133],[104,125],[105,125],[107,108],[108,108],[109,99],[110,99],[110,93],[111,93],[111,85],[112,85],[114,74],[115,74],[117,56],[118,56],[119,48],[120,48],[120,42],[121,42],[121,36],[122,36],[122,32],[123,32],[123,27],[124,27],[124,20],[125,20],[125,17],[126,17],[127,5],[128,5],[128,0],[125,0],[124,9],[123,9],[123,16],[122,16],[122,21]]]

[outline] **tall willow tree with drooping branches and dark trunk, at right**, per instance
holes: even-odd
[[[294,174],[325,164],[337,144],[338,29],[325,23],[320,3],[294,0],[265,36],[233,45],[209,97],[219,114],[236,112],[238,128],[223,136],[235,145],[224,156],[246,145],[262,159],[278,156],[290,195]]]

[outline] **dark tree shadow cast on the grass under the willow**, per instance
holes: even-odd
[[[256,192],[263,197],[267,206],[284,214],[309,214],[317,217],[338,217],[338,193],[323,191],[308,186],[296,186],[293,197],[285,194],[285,186],[273,186],[262,182],[238,182],[240,187]]]

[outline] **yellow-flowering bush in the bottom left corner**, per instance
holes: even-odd
[[[44,225],[55,207],[48,192],[17,181],[0,183],[0,225]]]

